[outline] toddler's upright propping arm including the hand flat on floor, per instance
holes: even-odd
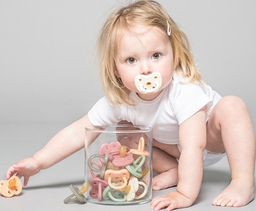
[[[202,151],[206,145],[206,113],[202,107],[196,114],[181,123],[179,139],[181,155],[178,163],[177,191],[154,198],[151,208],[166,210],[184,208],[193,204],[200,191],[203,173]]]

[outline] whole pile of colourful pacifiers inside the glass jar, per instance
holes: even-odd
[[[99,201],[133,201],[143,198],[148,185],[143,177],[149,172],[144,163],[149,152],[144,151],[144,138],[138,149],[121,146],[120,142],[104,143],[99,154],[88,159],[91,173],[90,196]]]

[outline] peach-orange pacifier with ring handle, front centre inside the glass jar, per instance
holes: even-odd
[[[128,183],[128,179],[130,177],[130,173],[127,171],[127,169],[121,169],[119,171],[114,171],[111,169],[108,169],[105,171],[105,175],[104,175],[104,180],[108,181],[108,185],[109,187],[111,187],[112,189],[123,189],[127,183]],[[122,185],[120,186],[116,186],[113,185],[112,183],[122,183]]]

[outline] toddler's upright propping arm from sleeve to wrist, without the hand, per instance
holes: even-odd
[[[203,173],[202,152],[206,146],[205,107],[180,125],[181,146],[177,191],[193,203],[200,191]],[[191,204],[192,204],[191,203]]]

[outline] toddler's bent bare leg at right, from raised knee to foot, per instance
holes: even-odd
[[[207,125],[206,149],[227,153],[231,183],[213,200],[217,206],[243,206],[254,198],[255,134],[246,105],[224,97]]]

